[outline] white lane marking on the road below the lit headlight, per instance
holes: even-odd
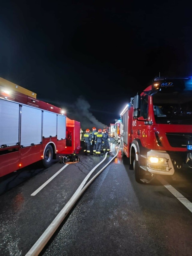
[[[164,185],[190,212],[192,212],[192,203],[185,198],[179,191],[172,187],[168,182],[166,182],[162,177],[158,177],[161,184]]]

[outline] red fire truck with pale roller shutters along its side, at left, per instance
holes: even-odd
[[[0,177],[42,160],[51,165],[56,153],[79,152],[80,123],[61,108],[0,78]]]

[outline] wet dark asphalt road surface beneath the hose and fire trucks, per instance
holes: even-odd
[[[111,149],[94,173],[116,154],[115,144]],[[47,169],[36,164],[0,179],[0,255],[26,255],[82,180],[104,159],[104,155],[79,156],[79,163],[69,164],[34,196],[36,189],[64,167],[58,159]],[[179,170],[173,180],[163,178],[190,207],[192,173]],[[191,255],[191,230],[192,212],[158,179],[149,185],[137,183],[128,159],[119,152],[88,186],[39,255]]]

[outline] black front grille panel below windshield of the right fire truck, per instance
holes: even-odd
[[[167,139],[172,147],[186,148],[192,145],[192,133],[166,133]]]

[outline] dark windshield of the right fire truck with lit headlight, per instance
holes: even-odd
[[[192,91],[153,95],[155,121],[161,124],[192,124]]]

